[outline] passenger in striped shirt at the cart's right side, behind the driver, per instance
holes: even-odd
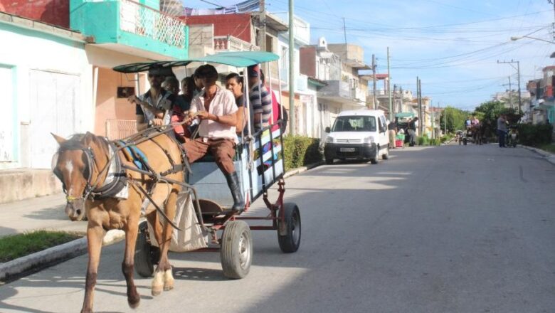
[[[272,114],[272,95],[268,88],[260,80],[260,67],[251,65],[248,67],[248,87],[250,105],[253,108],[253,124],[255,132],[260,131],[270,124]]]

